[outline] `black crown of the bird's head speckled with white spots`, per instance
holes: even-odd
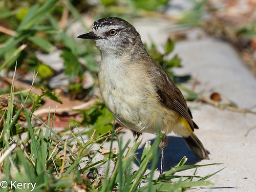
[[[106,17],[106,18],[101,18],[99,20],[96,20],[96,22],[93,23],[92,27],[93,29],[100,29],[104,26],[116,26],[116,25],[131,25],[126,20],[123,20],[122,18],[119,17]]]

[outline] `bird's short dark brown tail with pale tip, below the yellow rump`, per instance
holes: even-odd
[[[209,159],[203,144],[193,132],[190,134],[189,137],[183,137],[183,138],[186,141],[190,150],[193,151],[195,155],[203,159]]]

